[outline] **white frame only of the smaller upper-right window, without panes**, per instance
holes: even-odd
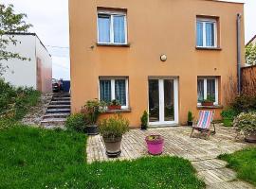
[[[197,18],[196,19],[196,25],[197,22],[203,23],[203,46],[198,46],[197,45],[197,26],[196,26],[196,47],[203,47],[203,48],[217,48],[217,20],[216,19],[210,19],[210,18]],[[208,46],[206,41],[206,24],[207,23],[212,23],[214,27],[214,45],[213,46]]]

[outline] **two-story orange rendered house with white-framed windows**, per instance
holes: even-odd
[[[69,20],[72,112],[99,98],[118,99],[131,127],[145,110],[155,127],[185,124],[201,109],[221,118],[244,57],[244,4],[69,0]],[[209,96],[214,105],[203,107]]]

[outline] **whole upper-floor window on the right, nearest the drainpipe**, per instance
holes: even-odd
[[[217,20],[197,18],[196,20],[196,46],[217,47]]]

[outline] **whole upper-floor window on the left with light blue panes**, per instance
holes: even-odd
[[[98,43],[127,43],[125,12],[98,11]]]

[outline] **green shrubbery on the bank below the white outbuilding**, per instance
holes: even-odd
[[[20,120],[39,101],[40,92],[32,88],[15,88],[3,79],[0,79],[0,89],[0,119]]]

